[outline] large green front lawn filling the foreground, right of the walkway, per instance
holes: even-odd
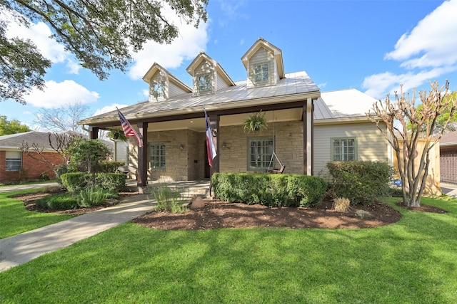
[[[129,222],[0,273],[0,303],[455,303],[457,201],[422,202],[449,213],[398,209],[376,229]]]

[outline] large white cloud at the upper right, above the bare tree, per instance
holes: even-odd
[[[363,88],[373,98],[398,90],[417,88],[445,73],[457,70],[457,0],[444,1],[404,33],[386,53],[386,60],[399,61],[404,73],[384,72],[367,76]]]

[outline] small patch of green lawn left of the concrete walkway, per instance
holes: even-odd
[[[8,197],[14,194],[24,194],[39,190],[40,189],[28,189],[0,193],[0,239],[74,217],[69,214],[28,211],[24,208],[23,201]]]

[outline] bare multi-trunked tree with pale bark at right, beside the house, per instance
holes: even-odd
[[[455,95],[448,93],[448,80],[441,87],[437,81],[430,85],[431,90],[428,93],[426,90],[418,93],[421,107],[415,106],[416,90],[413,90],[412,96],[405,95],[401,85],[400,94],[395,92],[395,100],[391,101],[387,95],[384,103],[379,100],[373,104],[371,111],[366,113],[396,152],[403,204],[406,206],[421,205],[421,196],[426,186],[428,167],[431,162],[430,151],[443,136],[446,126],[457,109]],[[441,130],[436,132],[438,119],[445,112],[449,115],[442,122]],[[380,122],[386,124],[387,130],[379,125]],[[424,143],[421,151],[418,151],[419,139]]]

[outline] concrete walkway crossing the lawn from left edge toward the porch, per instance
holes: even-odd
[[[135,219],[153,207],[146,194],[129,196],[116,206],[0,239],[0,272]]]

